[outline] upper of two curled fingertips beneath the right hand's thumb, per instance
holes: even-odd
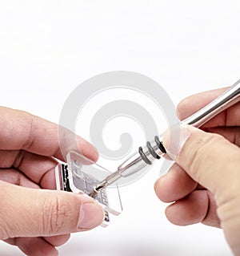
[[[192,193],[198,186],[179,165],[174,164],[169,172],[158,179],[154,185],[155,192],[161,201],[178,201]]]

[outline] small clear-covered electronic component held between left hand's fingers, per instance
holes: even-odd
[[[67,155],[67,165],[59,164],[55,171],[58,190],[82,193],[86,196],[90,196],[94,187],[99,184],[100,179],[98,177],[104,177],[110,173],[77,152],[70,152]],[[118,186],[114,189],[102,189],[93,198],[102,205],[105,211],[102,226],[110,224],[109,213],[118,215],[122,212]]]

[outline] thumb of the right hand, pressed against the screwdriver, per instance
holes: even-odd
[[[180,132],[176,128],[166,132],[163,144],[169,156],[219,200],[223,191],[239,191],[240,149],[223,136],[181,125]]]

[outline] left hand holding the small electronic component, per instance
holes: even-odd
[[[10,108],[0,108],[0,116],[0,239],[27,255],[58,255],[55,246],[71,232],[101,224],[102,208],[87,197],[50,190],[56,186],[54,158],[63,161],[56,124]],[[96,161],[98,152],[77,140],[82,154]]]

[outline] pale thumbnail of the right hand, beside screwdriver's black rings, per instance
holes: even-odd
[[[167,155],[176,160],[189,136],[190,131],[185,124],[174,125],[167,129],[162,140]]]

